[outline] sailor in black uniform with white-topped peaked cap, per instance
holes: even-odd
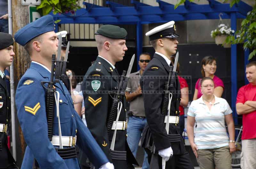
[[[175,78],[174,86],[169,87],[169,91],[172,93],[169,133],[165,129],[164,121],[166,122],[166,117],[163,119],[161,115],[164,100],[163,90],[167,84],[171,65],[170,57],[176,53],[178,45],[177,38],[179,35],[176,33],[174,21],[157,26],[147,32],[146,36],[149,36],[150,43],[156,53],[148,63],[140,79],[148,122],[148,126],[143,131],[142,146],[148,153],[148,160],[152,169],[162,169],[162,159],[166,161],[166,169],[193,169],[194,167],[188,152],[185,150],[183,139],[180,137],[180,83],[178,78]],[[154,160],[151,158],[154,150],[150,150],[150,147],[153,142],[155,144],[155,153],[158,152],[158,156],[156,156],[158,160],[156,161],[155,158]],[[172,155],[173,157],[170,158]]]

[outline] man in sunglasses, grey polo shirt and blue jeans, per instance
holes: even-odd
[[[143,74],[148,62],[151,60],[149,53],[142,53],[140,55],[139,66],[140,70],[130,74],[130,78],[127,84],[125,94],[127,101],[130,102],[130,116],[127,125],[127,143],[132,151],[134,157],[136,157],[138,144],[141,138],[141,133],[147,124],[144,101],[140,88],[140,75]],[[149,169],[148,155],[144,151],[144,161],[142,169]]]

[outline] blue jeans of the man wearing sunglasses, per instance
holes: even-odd
[[[132,151],[134,157],[136,157],[138,144],[140,142],[141,133],[147,124],[146,118],[140,118],[136,116],[130,116],[127,125],[127,143]],[[142,169],[149,169],[148,155],[144,151],[144,160]]]

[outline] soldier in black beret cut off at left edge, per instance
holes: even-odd
[[[5,82],[4,69],[12,64],[14,57],[13,38],[0,32],[0,168],[17,169],[15,160],[7,146],[7,126],[10,117],[11,98]]]

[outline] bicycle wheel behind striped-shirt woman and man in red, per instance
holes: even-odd
[[[227,128],[228,130],[228,128]],[[241,157],[240,154],[242,152],[242,131],[243,126],[235,126],[235,141],[236,141],[236,151],[231,154],[231,166],[232,168],[240,168]]]

